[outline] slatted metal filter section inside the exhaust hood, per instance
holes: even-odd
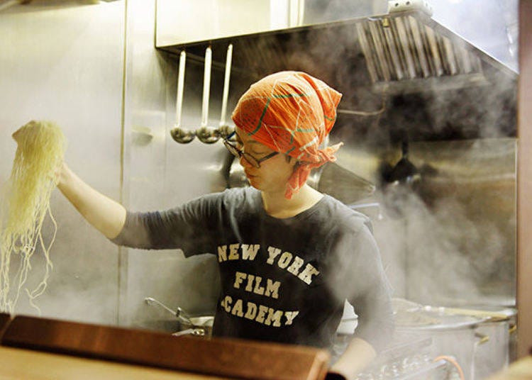
[[[367,18],[356,23],[356,28],[374,84],[428,78],[445,84],[450,77],[458,77],[464,84],[486,84],[481,59],[512,74],[501,62],[424,13]]]

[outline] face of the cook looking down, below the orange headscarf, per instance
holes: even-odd
[[[270,155],[275,152],[266,145],[263,145],[253,138],[250,138],[240,128],[236,128],[236,145],[238,149],[243,150],[252,155],[257,160],[262,157]],[[240,164],[244,167],[244,172],[251,186],[255,189],[265,192],[282,192],[286,189],[288,179],[294,172],[294,165],[296,160],[292,158],[287,162],[285,155],[279,154],[271,157],[265,161],[260,162],[260,167],[254,167],[252,164],[245,160],[244,157],[240,157]]]

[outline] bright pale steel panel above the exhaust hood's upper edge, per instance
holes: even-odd
[[[386,11],[382,0],[157,0],[156,45],[194,43]]]

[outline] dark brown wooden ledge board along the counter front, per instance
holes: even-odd
[[[328,368],[328,352],[313,347],[174,337],[26,316],[11,320],[1,345],[235,379],[323,379]]]

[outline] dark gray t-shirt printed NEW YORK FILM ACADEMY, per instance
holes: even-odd
[[[273,218],[256,189],[228,189],[177,208],[129,213],[119,245],[218,257],[214,336],[330,347],[347,299],[355,336],[382,349],[392,333],[389,284],[369,219],[331,196]]]

